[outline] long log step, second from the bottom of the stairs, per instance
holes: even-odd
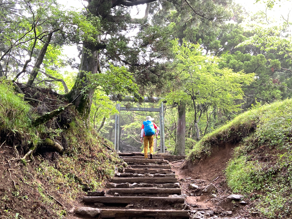
[[[139,203],[139,202],[149,202],[151,204],[162,202],[167,204],[173,203],[184,203],[185,199],[183,197],[112,197],[112,196],[104,196],[104,197],[89,197],[84,196],[82,199],[85,203]]]

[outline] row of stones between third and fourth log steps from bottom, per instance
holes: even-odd
[[[128,189],[128,188],[159,188],[159,189],[175,189],[179,188],[180,184],[179,183],[165,183],[165,184],[147,184],[147,183],[121,183],[121,184],[116,184],[116,183],[106,183],[105,186],[108,189]]]

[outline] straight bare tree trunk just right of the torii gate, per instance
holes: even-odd
[[[174,148],[175,155],[185,155],[185,103],[178,105],[178,128]]]

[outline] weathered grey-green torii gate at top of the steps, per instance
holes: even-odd
[[[109,95],[108,96],[110,100],[117,100],[116,97]],[[134,101],[134,97],[132,96],[126,96],[125,99],[122,101]],[[152,99],[149,99],[147,97],[144,97],[144,102],[157,102],[159,98],[153,97]],[[161,102],[161,106],[159,108],[143,108],[143,107],[132,107],[127,109],[126,107],[121,107],[121,104],[116,104],[116,109],[119,111],[119,113],[116,113],[115,118],[115,128],[114,128],[114,149],[118,152],[119,151],[119,144],[120,144],[120,111],[147,111],[147,112],[159,112],[159,128],[160,128],[160,151],[161,153],[165,153],[165,143],[164,143],[164,115],[163,115],[163,103]]]

